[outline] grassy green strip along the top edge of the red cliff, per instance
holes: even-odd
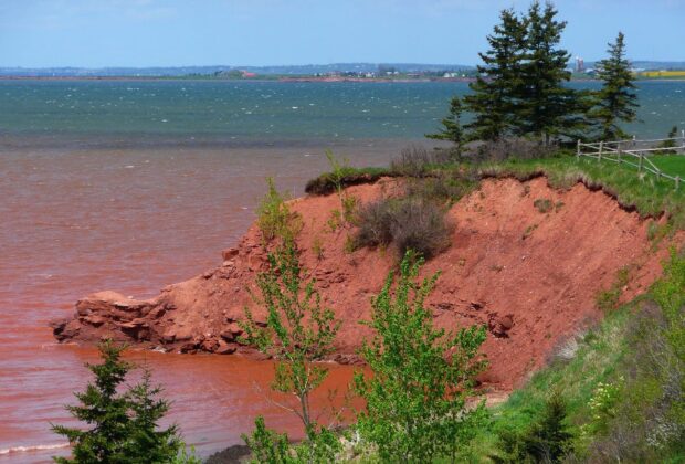
[[[435,162],[429,159],[399,160],[387,168],[341,167],[312,179],[306,191],[327,194],[336,186],[347,187],[372,182],[380,177],[409,177],[442,179],[471,179],[514,177],[521,181],[537,176],[547,177],[550,186],[567,189],[578,182],[591,189],[601,189],[614,197],[629,210],[637,211],[643,218],[660,218],[665,214],[675,229],[685,229],[685,181],[678,189],[667,179],[657,179],[651,173],[639,173],[628,165],[615,165],[590,158],[577,159],[569,152],[558,151],[544,158],[520,159],[510,157],[498,161],[450,161]],[[407,157],[405,157],[407,158]],[[653,162],[673,176],[685,178],[685,155],[657,155]]]

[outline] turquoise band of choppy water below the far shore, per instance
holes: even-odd
[[[575,87],[597,87],[573,83]],[[299,144],[417,139],[465,83],[0,81],[0,135],[24,143]],[[640,84],[637,137],[685,126],[685,82]],[[32,140],[32,141],[31,141]]]

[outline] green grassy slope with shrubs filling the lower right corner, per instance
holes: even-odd
[[[471,457],[536,462],[536,436],[556,430],[558,461],[682,462],[684,347],[685,255],[674,251],[647,295],[566,340],[549,367],[493,410]],[[565,408],[550,405],[550,386]]]

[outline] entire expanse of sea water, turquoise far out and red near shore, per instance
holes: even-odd
[[[579,83],[578,86],[593,84]],[[264,177],[299,194],[325,148],[384,165],[425,143],[462,83],[0,81],[0,463],[64,454],[50,423],[83,389],[88,347],[48,323],[89,293],[150,297],[220,264],[254,219]],[[684,83],[640,85],[639,137],[685,120]],[[133,352],[202,455],[240,443],[270,405],[271,368],[240,357]],[[344,384],[351,369],[334,372]],[[322,399],[323,401],[323,399]]]

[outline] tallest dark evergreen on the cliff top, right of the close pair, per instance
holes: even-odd
[[[556,19],[557,10],[551,3],[545,8],[535,1],[525,18],[526,51],[520,64],[521,86],[517,120],[521,135],[531,134],[546,145],[552,137],[578,129],[583,119],[578,117],[581,107],[579,95],[562,84],[571,73],[566,66],[570,54],[559,49],[566,21]]]

